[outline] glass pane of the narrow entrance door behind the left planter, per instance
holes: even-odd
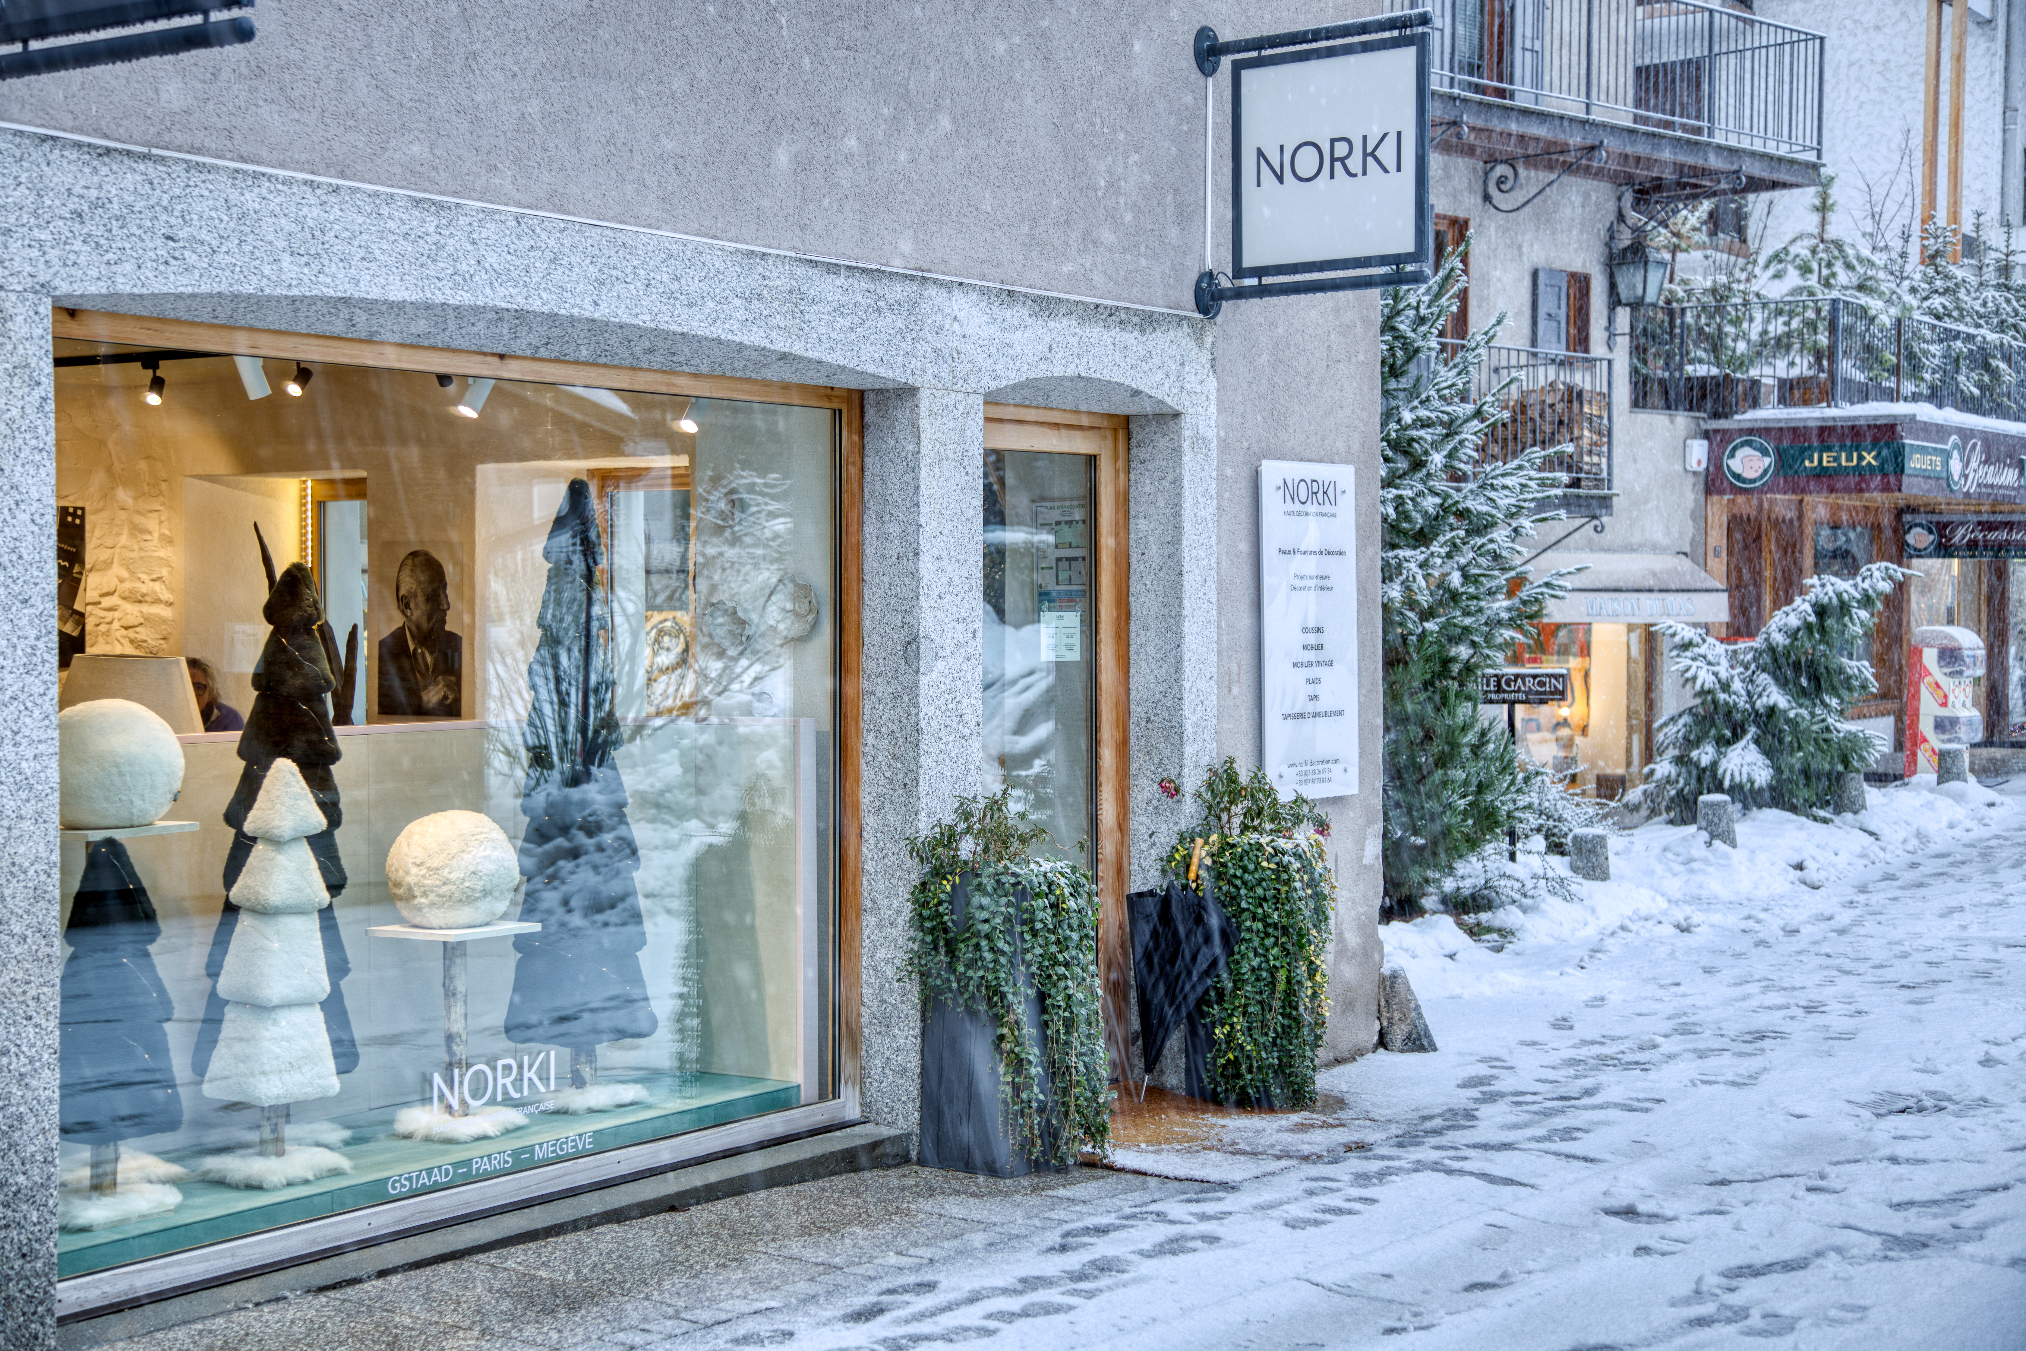
[[[1094,867],[1096,458],[985,452],[985,782]]]

